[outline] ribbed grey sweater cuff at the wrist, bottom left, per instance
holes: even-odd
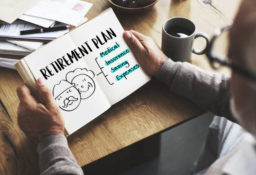
[[[72,157],[73,154],[70,151],[67,138],[64,135],[50,135],[44,138],[37,147],[39,154],[39,165],[41,168],[53,158],[57,157]]]

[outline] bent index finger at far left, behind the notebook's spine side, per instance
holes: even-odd
[[[17,95],[20,99],[20,103],[34,103],[35,98],[32,96],[28,86],[26,84],[22,84],[19,87],[17,87]]]

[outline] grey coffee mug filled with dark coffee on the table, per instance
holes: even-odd
[[[173,17],[163,23],[162,50],[173,61],[187,62],[192,53],[203,55],[209,48],[209,36],[203,32],[195,32],[195,24],[184,17]],[[203,37],[206,40],[204,50],[193,47],[194,40]]]

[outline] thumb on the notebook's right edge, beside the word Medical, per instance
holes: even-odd
[[[123,33],[123,37],[127,45],[134,52],[134,54],[143,50],[143,45],[140,43],[137,37],[135,37],[134,34],[132,34],[130,31],[125,31]]]

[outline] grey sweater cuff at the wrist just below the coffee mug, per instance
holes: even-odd
[[[166,83],[167,86],[170,87],[181,65],[181,62],[174,62],[170,58],[167,59],[166,62],[163,64],[162,68],[160,69],[157,75],[157,79],[163,83]]]

